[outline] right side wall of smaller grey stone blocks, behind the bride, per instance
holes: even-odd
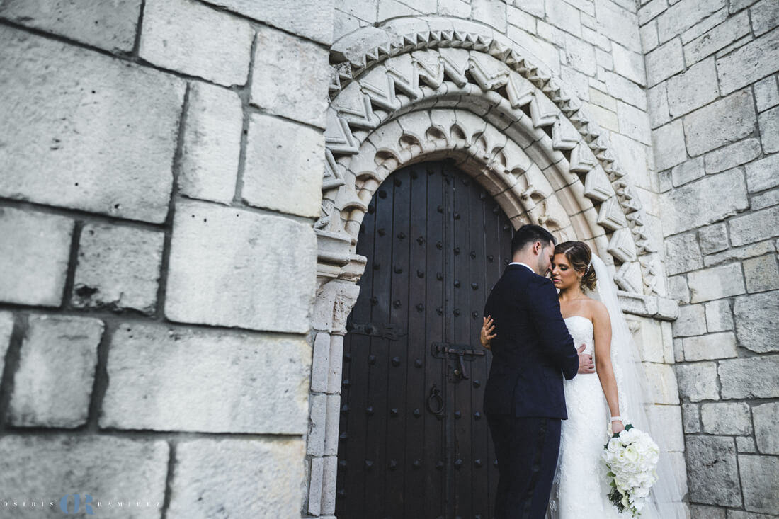
[[[642,4],[693,517],[776,517],[779,2]]]

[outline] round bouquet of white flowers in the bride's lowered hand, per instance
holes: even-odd
[[[620,512],[633,517],[641,514],[649,489],[657,481],[657,461],[660,449],[647,433],[626,425],[605,445],[603,459],[608,467],[608,482],[612,491],[608,499]]]

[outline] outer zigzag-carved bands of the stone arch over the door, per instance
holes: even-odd
[[[330,96],[323,218],[317,228],[330,228],[338,212],[346,218],[347,226],[349,221],[361,221],[358,214],[364,214],[372,192],[357,185],[358,175],[366,172],[354,171],[351,157],[361,159],[369,136],[411,111],[456,107],[488,119],[509,142],[523,147],[539,167],[556,164],[563,177],[568,175],[563,184],[583,183],[581,189],[590,199],[590,207],[600,207],[594,224],[608,233],[608,253],[618,266],[622,264],[615,281],[626,291],[656,292],[656,251],[644,228],[640,201],[609,150],[608,139],[582,113],[575,97],[564,94],[555,78],[527,62],[515,49],[482,34],[418,31],[335,65]],[[442,135],[451,130],[435,125],[430,129]],[[418,139],[418,149],[429,159],[432,150],[425,143],[428,140]],[[485,153],[495,156],[502,147]],[[373,154],[374,171],[377,160]],[[396,167],[410,164],[396,162]],[[481,164],[480,168],[495,168],[495,164]],[[345,180],[348,175],[350,181]],[[380,180],[372,182],[377,187]],[[542,221],[544,217],[538,214],[536,218]],[[560,224],[559,216],[551,219]],[[640,269],[631,264],[636,260]],[[636,277],[641,281],[636,283]]]

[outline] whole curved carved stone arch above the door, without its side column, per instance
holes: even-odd
[[[403,165],[456,158],[475,171],[472,175],[488,192],[502,196],[502,206],[517,212],[509,217],[519,218],[523,210],[530,219],[551,222],[580,238],[605,233],[608,246],[599,252],[612,256],[607,263],[637,260],[644,290],[654,290],[657,255],[640,201],[608,138],[580,109],[580,101],[566,94],[562,81],[478,23],[393,19],[379,29],[386,38],[372,30],[385,42],[376,48],[368,49],[371,38],[365,33],[361,39],[360,31],[350,35],[348,49],[347,41],[333,46],[342,57],[351,53],[348,64],[334,70],[326,129],[334,157],[330,163],[339,170],[326,171],[326,189],[339,194],[323,196],[323,217],[330,220],[318,222],[317,228],[338,228],[332,215],[340,210],[340,229],[356,239],[377,182]],[[479,126],[481,132],[473,130]],[[390,135],[397,139],[388,143],[384,137]],[[375,148],[368,157],[363,143]],[[524,162],[510,164],[512,148],[522,150]],[[534,167],[545,182],[527,182]],[[351,187],[337,185],[340,179],[351,181]],[[327,208],[330,202],[333,207]],[[558,206],[557,216],[547,209]]]

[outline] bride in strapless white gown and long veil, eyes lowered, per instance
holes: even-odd
[[[633,360],[630,333],[616,291],[608,284],[605,264],[593,256],[587,244],[563,242],[555,247],[552,283],[559,289],[560,311],[574,344],[584,344],[584,353],[593,356],[597,377],[579,375],[564,385],[568,419],[562,422],[555,488],[547,515],[549,519],[627,517],[608,500],[610,488],[601,453],[608,437],[625,429],[627,409],[633,414],[633,425],[651,434],[643,409],[651,400],[640,385],[640,364]],[[588,297],[587,291],[597,292],[601,301]],[[488,316],[481,329],[482,344],[488,348],[493,337],[495,325]],[[629,390],[629,398],[625,390]],[[658,477],[641,517],[685,517],[679,485],[666,461],[658,467]]]

